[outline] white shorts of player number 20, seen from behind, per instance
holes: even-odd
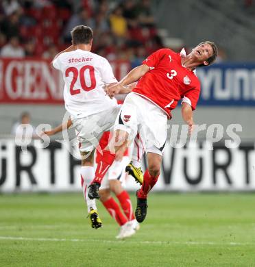
[[[109,110],[84,118],[71,118],[73,127],[77,131],[80,151],[90,152],[98,146],[104,131],[109,131],[113,127],[120,107],[121,105],[116,105]]]

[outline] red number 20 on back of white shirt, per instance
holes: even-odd
[[[86,81],[85,81],[85,71],[87,69],[88,69],[89,75],[90,75],[90,86],[86,86]],[[65,73],[66,77],[69,77],[70,73],[73,73],[73,79],[72,79],[71,85],[70,85],[70,93],[71,93],[71,95],[80,94],[80,92],[81,92],[80,89],[73,89],[74,86],[75,86],[75,83],[76,83],[76,81],[78,79],[78,76],[80,77],[80,84],[81,84],[82,89],[84,91],[88,92],[90,90],[95,89],[96,80],[95,80],[95,69],[94,69],[93,66],[89,66],[89,65],[83,66],[80,69],[80,72],[75,67],[66,68],[66,73]]]

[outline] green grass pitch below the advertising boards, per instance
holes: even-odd
[[[135,204],[132,193],[133,205]],[[0,195],[0,266],[255,266],[254,194],[151,194],[135,236],[82,194]]]

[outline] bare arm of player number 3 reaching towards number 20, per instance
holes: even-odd
[[[108,88],[108,95],[110,97],[114,97],[115,94],[127,94],[128,92],[131,92],[134,88],[132,87],[132,84],[138,81],[138,79],[141,79],[141,77],[143,77],[143,75],[145,75],[145,73],[147,73],[149,70],[149,66],[145,64],[133,68],[130,73],[127,73],[127,75],[125,75],[125,77],[119,81],[119,83]]]

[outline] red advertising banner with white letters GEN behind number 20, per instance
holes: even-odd
[[[110,62],[115,77],[130,71],[130,62]],[[64,81],[49,60],[0,59],[0,103],[62,104]]]

